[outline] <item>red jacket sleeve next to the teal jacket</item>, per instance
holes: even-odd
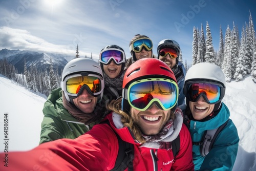
[[[172,170],[194,170],[192,140],[185,124],[181,127],[180,150],[174,160]]]

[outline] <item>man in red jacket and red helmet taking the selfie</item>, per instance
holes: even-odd
[[[9,164],[1,164],[1,170],[194,170],[190,134],[177,108],[179,88],[173,71],[159,59],[140,59],[125,72],[122,88],[122,98],[108,105],[113,112],[91,131],[29,152],[6,153]],[[146,94],[151,98],[133,103]],[[177,137],[179,151],[174,156]],[[6,154],[0,154],[2,160]],[[117,166],[125,154],[129,160]]]

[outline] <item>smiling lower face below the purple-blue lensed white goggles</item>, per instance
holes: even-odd
[[[122,69],[122,65],[116,65],[116,63],[112,60],[109,65],[103,65],[103,70],[106,75],[110,78],[116,78]]]

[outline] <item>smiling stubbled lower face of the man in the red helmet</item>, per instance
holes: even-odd
[[[131,107],[131,116],[144,135],[156,135],[170,118],[170,110],[163,111],[155,104],[146,111],[138,111]]]

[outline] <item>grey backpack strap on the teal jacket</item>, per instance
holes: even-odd
[[[203,142],[200,142],[200,153],[203,157],[205,157],[209,151],[212,148],[212,145],[214,145],[216,137],[219,135],[219,133],[222,131],[222,129],[226,126],[229,119],[223,123],[221,126],[217,127],[214,130],[207,130]]]

